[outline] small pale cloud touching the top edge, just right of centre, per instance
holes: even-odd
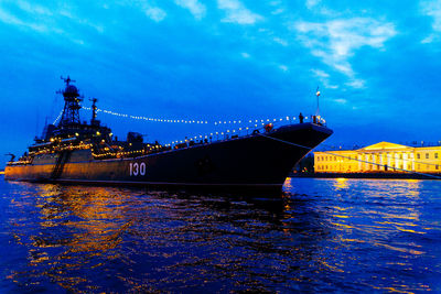
[[[223,22],[232,22],[237,24],[254,24],[263,18],[248,10],[238,0],[217,0],[217,8],[225,10],[226,17]]]

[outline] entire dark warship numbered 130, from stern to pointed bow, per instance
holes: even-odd
[[[209,190],[279,194],[292,167],[332,134],[314,122],[287,124],[217,141],[162,145],[144,143],[129,132],[118,141],[97,120],[97,99],[92,99],[89,123],[79,118],[82,96],[64,79],[64,109],[57,126],[47,124],[41,139],[4,170],[10,181],[197,187]]]

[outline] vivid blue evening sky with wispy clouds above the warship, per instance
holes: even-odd
[[[86,107],[184,120],[308,116],[319,86],[329,145],[441,140],[441,0],[0,0],[0,40],[3,161],[67,75]],[[99,119],[162,143],[234,127]]]

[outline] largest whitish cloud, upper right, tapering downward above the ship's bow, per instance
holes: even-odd
[[[384,23],[370,18],[332,20],[327,22],[297,22],[293,26],[298,40],[311,54],[351,78],[347,84],[354,88],[364,87],[364,81],[355,77],[349,57],[363,46],[383,50],[387,40],[397,32],[392,23]]]

